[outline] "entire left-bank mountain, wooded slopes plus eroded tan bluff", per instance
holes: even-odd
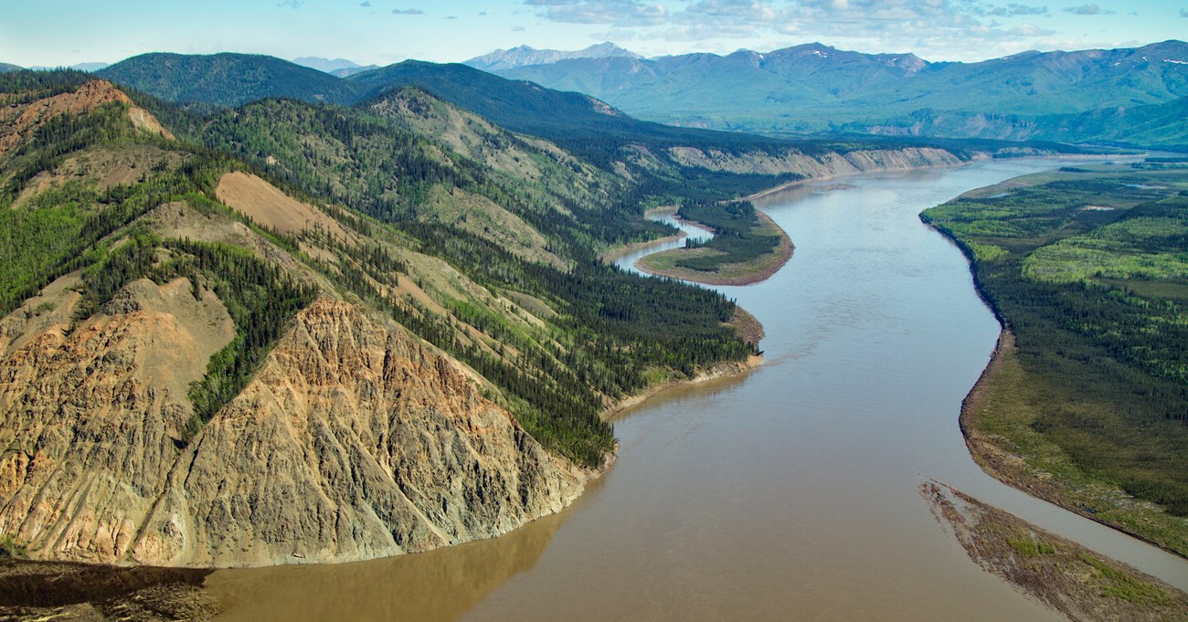
[[[206,116],[76,71],[0,93],[0,533],[31,557],[497,535],[613,458],[606,407],[756,354],[722,296],[596,259],[666,233],[636,183],[422,90]]]

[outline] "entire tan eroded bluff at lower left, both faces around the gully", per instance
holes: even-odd
[[[424,551],[556,512],[590,476],[456,363],[329,298],[184,439],[185,387],[234,334],[219,299],[141,280],[71,326],[67,285],[0,323],[0,533],[31,557],[233,566]]]

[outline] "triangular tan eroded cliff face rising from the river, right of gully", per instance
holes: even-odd
[[[560,510],[586,478],[448,360],[323,298],[177,462],[133,557],[254,565],[424,551]]]

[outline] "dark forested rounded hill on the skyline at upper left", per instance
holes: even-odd
[[[96,75],[173,102],[239,106],[264,97],[328,103],[356,99],[350,83],[271,56],[146,53]]]

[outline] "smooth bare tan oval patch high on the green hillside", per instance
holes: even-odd
[[[320,228],[339,240],[349,240],[339,222],[322,210],[285,195],[254,174],[240,171],[223,174],[215,188],[215,196],[257,224],[283,234]]]

